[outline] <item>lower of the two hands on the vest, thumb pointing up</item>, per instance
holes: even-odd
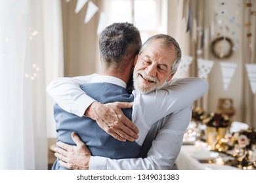
[[[91,152],[85,144],[79,139],[76,133],[72,133],[72,139],[77,146],[70,146],[63,142],[57,142],[60,148],[54,148],[54,156],[59,158],[58,163],[67,169],[88,170],[91,158]]]

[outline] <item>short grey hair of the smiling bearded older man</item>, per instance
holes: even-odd
[[[149,39],[146,40],[146,42],[144,42],[144,44],[140,48],[139,54],[141,52],[143,52],[144,48],[146,48],[146,46],[148,46],[148,44],[150,44],[150,42],[152,42],[156,39],[163,40],[161,42],[163,48],[174,49],[173,51],[175,52],[176,57],[175,57],[175,61],[173,61],[173,65],[171,67],[171,74],[175,74],[179,67],[179,63],[181,63],[181,48],[179,46],[179,43],[170,35],[158,34],[158,35],[154,35],[154,36],[150,37]]]

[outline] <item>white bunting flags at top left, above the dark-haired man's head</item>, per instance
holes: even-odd
[[[71,0],[66,0],[66,3],[69,3]],[[87,10],[85,14],[85,20],[84,23],[87,24],[91,18],[98,12],[99,8],[93,3],[92,1],[88,0],[77,0],[76,6],[75,6],[75,13],[79,13],[79,11],[86,5],[87,5]],[[100,35],[100,32],[106,27],[106,22],[107,22],[107,17],[104,12],[100,12],[100,20],[98,22],[98,29],[97,29],[97,34]]]

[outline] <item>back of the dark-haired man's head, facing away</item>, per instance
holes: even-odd
[[[133,61],[141,47],[140,33],[130,23],[114,23],[100,33],[99,48],[103,64],[121,72]]]

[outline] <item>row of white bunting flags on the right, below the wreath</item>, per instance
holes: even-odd
[[[192,63],[193,58],[190,56],[182,56],[181,63],[179,65],[178,73],[179,77],[186,77],[186,73]],[[211,69],[213,68],[214,61],[208,59],[197,59],[198,63],[198,76],[202,79],[207,79],[209,73],[211,73]],[[228,85],[230,84],[232,77],[236,71],[237,63],[227,63],[221,61],[221,73],[223,76],[223,88],[226,91],[228,89]],[[247,71],[247,78],[249,80],[251,86],[251,92],[253,94],[256,93],[256,64],[255,63],[246,63],[245,68]]]

